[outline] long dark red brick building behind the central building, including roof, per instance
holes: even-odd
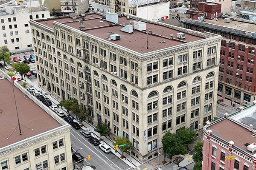
[[[218,95],[239,105],[250,105],[256,96],[256,78],[253,76],[256,34],[254,24],[224,19],[205,22],[184,19],[184,28],[209,31],[222,36]],[[239,28],[239,29],[238,29]]]

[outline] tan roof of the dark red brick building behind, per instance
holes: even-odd
[[[222,18],[218,18],[217,21],[204,19],[204,22],[184,18],[181,22],[218,31],[224,31],[230,34],[238,34],[244,37],[256,38],[256,25],[252,23],[246,23],[242,21],[240,22],[235,20],[231,20],[230,23],[225,23],[224,19]]]

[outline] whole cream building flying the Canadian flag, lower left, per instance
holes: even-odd
[[[0,170],[71,170],[70,125],[19,84],[14,86],[16,113],[8,79],[0,79]]]

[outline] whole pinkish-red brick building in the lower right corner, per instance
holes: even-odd
[[[256,103],[256,101],[254,102]],[[255,170],[256,106],[207,122],[202,170]]]

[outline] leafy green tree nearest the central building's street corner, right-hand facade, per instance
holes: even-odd
[[[166,155],[169,155],[172,159],[173,156],[179,155],[179,154],[186,154],[188,151],[185,149],[185,147],[180,142],[180,139],[176,134],[173,134],[171,132],[166,132],[162,138],[163,143],[163,155],[165,162]]]

